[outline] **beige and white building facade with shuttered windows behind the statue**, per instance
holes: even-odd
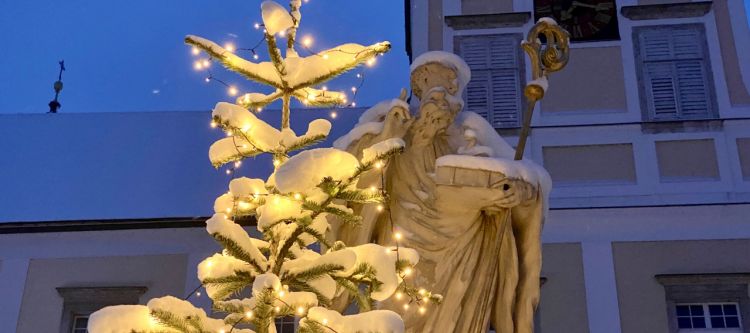
[[[517,140],[536,19],[572,39],[526,157],[553,179],[539,332],[750,332],[743,1],[410,0],[412,56],[455,52],[466,108]]]

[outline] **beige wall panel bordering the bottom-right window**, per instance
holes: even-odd
[[[749,239],[616,242],[612,252],[622,333],[669,331],[657,274],[750,272]]]

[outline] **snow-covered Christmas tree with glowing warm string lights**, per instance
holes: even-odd
[[[235,178],[229,191],[214,203],[206,230],[223,247],[198,265],[198,278],[213,301],[213,314],[172,296],[147,305],[106,307],[92,314],[88,330],[99,332],[275,332],[275,320],[299,317],[299,332],[402,332],[399,314],[377,310],[391,297],[423,313],[440,295],[407,284],[417,264],[416,251],[365,244],[347,247],[326,238],[330,223],[357,224],[360,217],[348,204],[376,205],[387,197],[381,188],[360,189],[363,173],[382,168],[403,149],[400,139],[387,140],[364,151],[362,160],[342,150],[301,150],[326,138],[331,124],[318,119],[303,135],[289,128],[290,101],[334,106],[346,103],[340,92],[316,86],[387,52],[387,42],[370,46],[344,44],[300,57],[295,51],[302,0],[289,9],[273,1],[261,5],[268,62],[245,60],[207,39],[188,36],[186,42],[246,78],[271,86],[269,94],[249,93],[236,104],[220,102],[212,124],[226,138],[215,142],[209,158],[215,167],[271,154],[274,173],[267,179]],[[286,39],[282,56],[278,39]],[[255,116],[257,108],[282,100],[282,126],[274,128]],[[262,238],[251,237],[235,221],[255,217]],[[396,233],[396,242],[398,236]],[[319,244],[323,251],[315,251]],[[353,300],[357,314],[334,309],[336,299]],[[356,311],[354,311],[356,312]],[[222,318],[216,318],[222,316]]]

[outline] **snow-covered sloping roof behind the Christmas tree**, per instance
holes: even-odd
[[[363,110],[337,110],[330,138]],[[304,133],[329,113],[292,110],[292,128]],[[261,118],[278,124],[280,114]],[[210,216],[230,180],[208,160],[223,136],[210,121],[210,111],[0,114],[0,222]],[[272,168],[258,157],[237,175]]]

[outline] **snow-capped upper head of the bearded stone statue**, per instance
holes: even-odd
[[[420,100],[423,94],[435,87],[443,87],[450,95],[461,97],[469,80],[469,65],[453,53],[426,52],[411,64],[411,89]]]

